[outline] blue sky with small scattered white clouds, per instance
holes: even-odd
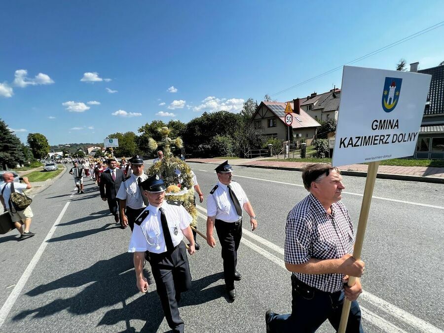
[[[325,92],[341,70],[274,95],[444,21],[443,1],[421,2],[5,1],[0,117],[23,142],[96,143],[154,119],[238,112],[249,97]],[[443,36],[442,26],[354,65],[434,67]]]

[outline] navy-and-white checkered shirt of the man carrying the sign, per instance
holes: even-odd
[[[311,258],[338,259],[352,253],[355,237],[345,206],[335,202],[328,214],[313,194],[288,213],[285,227],[285,262],[301,264]],[[293,273],[305,284],[324,292],[343,289],[343,274]]]

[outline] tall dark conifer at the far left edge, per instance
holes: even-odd
[[[26,161],[23,154],[23,144],[13,134],[6,123],[0,119],[0,163],[3,169],[14,167]]]

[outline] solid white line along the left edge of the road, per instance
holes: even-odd
[[[45,251],[45,248],[48,245],[48,240],[52,237],[52,235],[57,227],[57,224],[59,224],[59,222],[62,220],[63,215],[65,214],[70,202],[71,201],[68,201],[65,204],[65,207],[63,207],[57,220],[52,225],[52,227],[49,230],[48,234],[46,235],[45,239],[40,244],[40,247],[38,248],[33,259],[29,263],[28,267],[26,267],[25,272],[22,274],[19,281],[17,282],[17,285],[12,290],[11,294],[9,295],[9,297],[6,299],[3,306],[1,307],[1,309],[0,309],[0,328],[3,325],[4,321],[6,320],[6,317],[9,314],[9,311],[11,311],[11,308],[14,305],[15,301],[17,300],[18,296],[20,296],[20,293],[22,292],[23,288],[25,287],[26,282],[28,281],[34,268],[36,267],[38,260],[40,259],[41,255],[43,254],[43,251]]]

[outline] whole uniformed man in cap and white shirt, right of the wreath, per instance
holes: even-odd
[[[219,182],[207,198],[207,243],[216,246],[213,227],[216,227],[222,246],[223,277],[228,297],[234,301],[236,289],[234,281],[240,281],[241,274],[236,270],[237,249],[242,238],[242,207],[250,216],[252,231],[258,226],[255,212],[247,195],[239,183],[231,180],[233,168],[228,161],[216,169]]]

